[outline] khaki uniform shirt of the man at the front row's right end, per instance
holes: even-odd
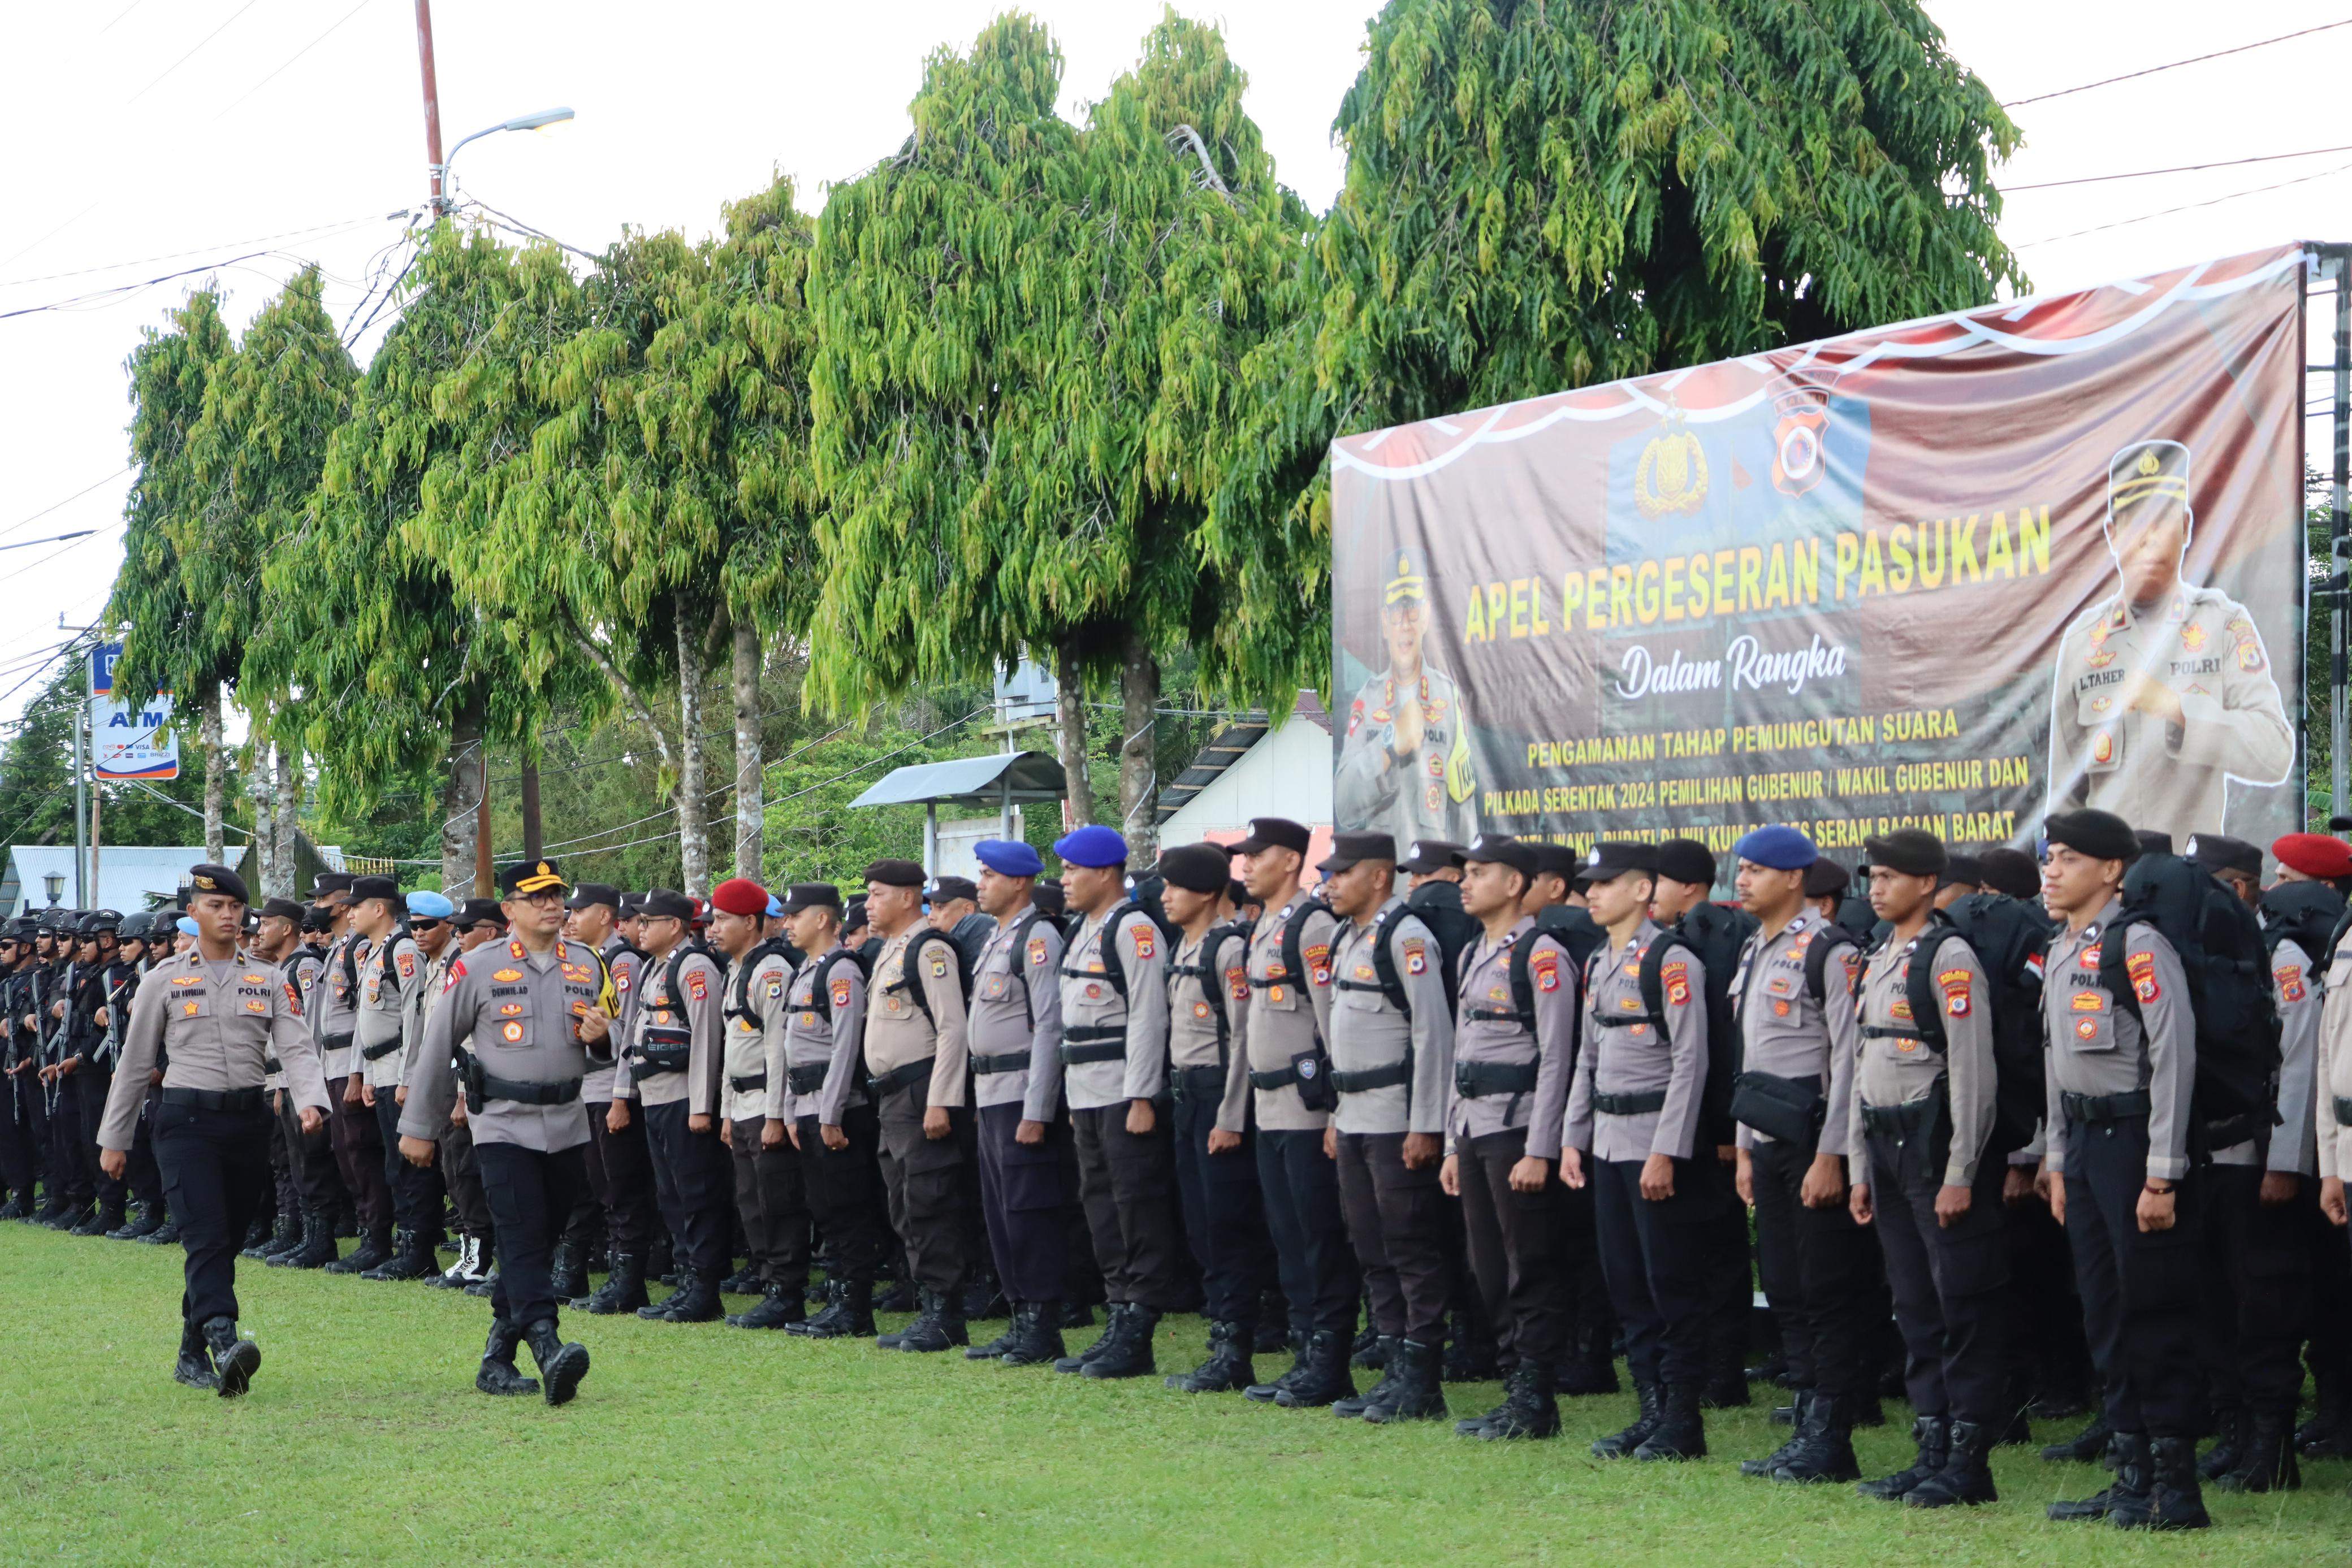
[[[2065,1103],[2060,1095],[2119,1095],[2147,1091],[2147,1175],[2178,1180],[2190,1173],[2190,1093],[2197,1086],[2197,1020],[2187,1006],[2180,954],[2150,924],[2131,926],[2124,973],[2140,1016],[2117,1006],[2098,978],[2107,922],[2124,912],[2110,898],[2082,931],[2051,938],[2042,1009],[2049,1020],[2049,1168],[2065,1171]]]

